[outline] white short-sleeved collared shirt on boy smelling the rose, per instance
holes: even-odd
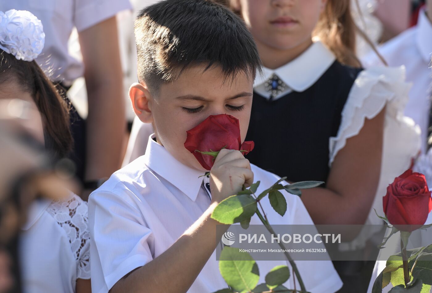
[[[251,167],[254,181],[261,181],[260,189],[279,179],[254,165]],[[210,198],[203,188],[203,177],[198,178],[201,175],[202,172],[181,164],[150,138],[145,155],[115,172],[90,195],[92,292],[108,292],[124,275],[165,252],[203,214]],[[262,202],[269,222],[313,224],[300,198],[285,191],[284,195],[287,211],[283,217],[273,211],[268,200]],[[251,224],[261,224],[256,215]],[[309,292],[330,293],[342,287],[331,261],[296,263]],[[260,284],[270,269],[287,262],[257,261],[257,264]],[[292,278],[286,287],[293,288],[291,282]],[[187,292],[210,293],[227,287],[219,273],[215,251]]]

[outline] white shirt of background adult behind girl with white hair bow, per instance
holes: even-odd
[[[0,1],[0,11],[29,10],[41,20],[45,46],[36,59],[50,78],[66,85],[83,76],[84,65],[70,56],[68,40],[74,27],[81,32],[119,11],[131,9],[129,0],[11,0]],[[52,70],[51,70],[52,69]]]

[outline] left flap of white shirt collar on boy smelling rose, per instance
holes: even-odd
[[[150,135],[144,154],[144,164],[195,201],[203,183],[204,172],[188,167],[172,156]]]

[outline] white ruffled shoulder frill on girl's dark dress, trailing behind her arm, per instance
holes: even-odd
[[[366,240],[381,230],[383,221],[382,198],[388,184],[410,168],[413,159],[421,149],[420,128],[414,121],[403,115],[409,100],[411,84],[405,82],[405,67],[371,67],[359,73],[351,88],[336,137],[330,138],[330,160],[334,161],[346,140],[359,134],[365,119],[372,119],[386,107],[384,119],[381,173],[377,192],[364,226],[357,238],[343,249],[363,247]],[[375,213],[376,210],[376,213]],[[381,240],[381,239],[380,239]],[[379,243],[377,243],[379,244]]]

